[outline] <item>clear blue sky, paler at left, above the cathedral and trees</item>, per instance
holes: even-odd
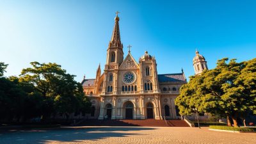
[[[31,61],[56,62],[81,81],[104,68],[115,12],[127,55],[145,50],[158,74],[191,76],[197,48],[214,68],[221,58],[256,56],[256,1],[0,1],[0,61],[19,76]]]

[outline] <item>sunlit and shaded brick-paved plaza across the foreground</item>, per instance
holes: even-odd
[[[256,133],[191,127],[76,127],[1,132],[0,143],[256,143]]]

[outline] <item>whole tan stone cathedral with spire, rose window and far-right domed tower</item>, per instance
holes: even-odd
[[[83,79],[83,90],[92,102],[88,118],[147,119],[180,118],[174,100],[186,84],[183,70],[177,74],[157,74],[156,58],[145,51],[138,62],[128,51],[124,58],[118,13],[107,49],[103,72],[97,68],[95,79]],[[193,60],[196,74],[207,68],[196,51]]]

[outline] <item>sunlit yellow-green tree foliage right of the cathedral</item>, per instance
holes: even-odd
[[[217,67],[190,77],[175,99],[180,115],[191,115],[193,108],[212,115],[230,116],[236,125],[256,107],[256,59],[237,63],[228,58],[218,60]]]

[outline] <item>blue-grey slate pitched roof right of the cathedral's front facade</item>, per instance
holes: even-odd
[[[163,82],[184,82],[186,83],[186,77],[182,73],[178,74],[159,74],[158,75],[159,83]]]

